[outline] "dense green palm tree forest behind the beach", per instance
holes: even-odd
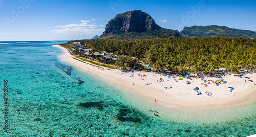
[[[203,74],[225,67],[254,69],[256,38],[199,37],[144,40],[76,40],[99,51],[141,59],[155,70]]]

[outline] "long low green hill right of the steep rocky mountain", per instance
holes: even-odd
[[[256,37],[256,32],[254,31],[232,29],[217,25],[184,27],[180,34],[184,37]]]

